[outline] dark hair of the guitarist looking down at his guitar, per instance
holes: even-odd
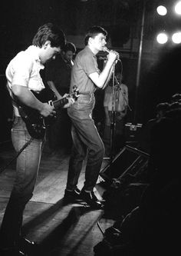
[[[38,28],[33,38],[32,45],[42,47],[46,41],[51,42],[51,47],[63,48],[66,43],[64,32],[57,25],[47,23]]]

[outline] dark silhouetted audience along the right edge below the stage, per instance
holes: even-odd
[[[149,182],[140,205],[108,228],[96,256],[177,254],[179,250],[181,104],[172,103],[150,131]]]

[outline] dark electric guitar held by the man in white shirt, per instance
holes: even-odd
[[[44,90],[42,90],[40,93],[36,93],[35,91],[31,92],[35,95],[36,98],[38,98],[39,101],[44,102]],[[67,97],[61,98],[60,100],[55,100],[56,96],[52,92],[52,95],[54,96],[51,97],[51,100],[45,102],[53,106],[54,110],[56,111],[58,110],[58,108],[62,108],[68,103],[68,98],[74,98],[74,100],[77,100],[79,91],[76,85],[74,85],[73,91],[74,92],[72,94],[67,95]],[[52,100],[52,98],[54,98],[54,101]],[[19,114],[21,115],[23,121],[25,121],[26,128],[31,137],[38,139],[44,138],[46,128],[51,125],[53,119],[56,118],[56,115],[54,117],[44,118],[35,108],[30,108],[22,104],[20,101],[18,101],[18,99],[15,99],[15,102],[18,107]]]

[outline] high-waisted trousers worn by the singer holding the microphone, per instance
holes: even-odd
[[[67,113],[72,121],[71,135],[73,140],[66,187],[69,191],[77,188],[86,155],[87,165],[83,188],[85,191],[93,190],[100,173],[104,158],[104,143],[92,119],[94,104],[94,95],[80,95],[74,105],[67,108]]]

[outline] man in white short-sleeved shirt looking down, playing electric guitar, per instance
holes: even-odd
[[[25,121],[21,118],[15,98],[23,105],[39,112],[46,118],[55,114],[54,107],[43,103],[31,91],[40,92],[44,84],[39,71],[44,64],[55,58],[65,45],[64,32],[51,23],[38,28],[32,44],[19,52],[6,68],[8,91],[12,97],[14,122],[12,125],[12,144],[15,151],[31,139]],[[74,99],[68,98],[67,108]],[[31,144],[17,158],[15,183],[12,188],[0,230],[1,255],[28,255],[29,251],[38,249],[38,244],[21,236],[23,212],[31,199],[35,188],[41,160],[44,138],[33,138]]]

